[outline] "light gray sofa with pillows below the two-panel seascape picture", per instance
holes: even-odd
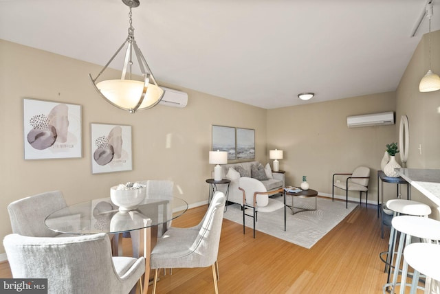
[[[267,179],[259,181],[263,183],[268,192],[278,190],[279,188],[285,186],[285,174],[272,172],[269,165],[261,166],[261,163],[259,161],[225,164],[221,166],[221,173],[222,179],[230,179],[231,181],[229,186],[228,201],[243,205],[243,192],[239,190],[239,179],[241,175],[239,174],[239,172],[234,171],[241,170],[242,174],[247,173],[247,177],[252,177],[252,166],[254,166],[254,168],[259,167],[260,171],[265,168]],[[230,168],[232,168],[233,171],[230,171]],[[227,185],[217,185],[217,188],[219,188],[219,191],[225,193]],[[276,194],[276,192],[274,192],[274,194]]]

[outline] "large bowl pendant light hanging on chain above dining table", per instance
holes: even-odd
[[[162,100],[164,96],[164,90],[157,85],[157,82],[151,72],[150,67],[146,63],[142,52],[137,47],[134,28],[131,19],[131,8],[139,6],[139,0],[122,0],[125,5],[129,6],[129,36],[124,43],[119,47],[118,51],[110,58],[107,65],[102,68],[96,78],[92,78],[89,74],[91,82],[98,93],[107,100],[113,106],[129,111],[129,113],[135,113],[135,111],[142,111],[145,109],[151,109],[157,103]],[[124,65],[122,67],[122,76],[120,80],[102,80],[97,82],[98,78],[110,65],[115,56],[119,54],[121,49],[126,45]],[[133,54],[134,53],[134,54]],[[140,72],[142,73],[143,80],[134,80],[132,78],[133,57],[137,60]]]

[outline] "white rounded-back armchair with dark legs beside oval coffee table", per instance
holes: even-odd
[[[267,192],[265,185],[256,179],[241,177],[239,179],[239,190],[243,192],[243,234],[245,234],[245,216],[250,216],[255,223],[258,220],[259,212],[274,212],[284,207],[284,203],[269,198],[274,191]]]

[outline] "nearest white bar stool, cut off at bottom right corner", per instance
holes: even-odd
[[[425,293],[429,293],[428,291],[430,290],[432,280],[435,280],[437,281],[437,284],[440,284],[440,245],[413,243],[406,246],[404,250],[404,269],[405,264],[409,264],[412,269],[414,269],[411,283],[411,294],[416,293],[417,291],[419,273],[426,275]],[[405,284],[406,271],[403,271],[401,274],[401,285]],[[400,286],[400,293],[405,293],[405,287]]]

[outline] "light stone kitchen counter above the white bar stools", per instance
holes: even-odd
[[[440,170],[396,168],[400,177],[440,207]]]

